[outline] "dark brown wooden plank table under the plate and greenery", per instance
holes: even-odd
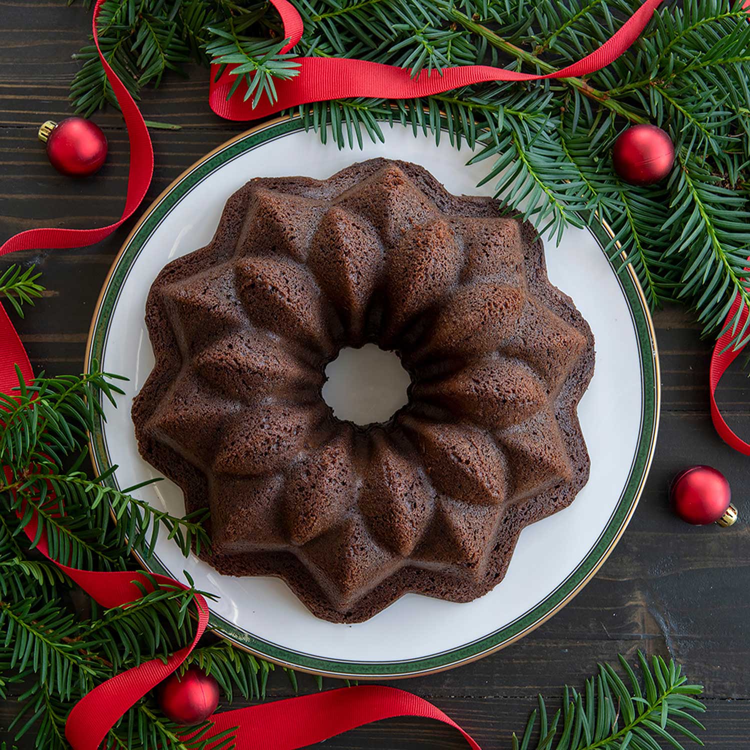
[[[42,121],[70,114],[68,83],[77,68],[71,54],[89,26],[89,13],[66,7],[66,0],[0,0],[0,242],[35,226],[100,226],[120,215],[128,154],[117,113],[96,117],[107,133],[110,157],[92,178],[58,175],[36,136]],[[196,69],[189,80],[172,77],[145,96],[146,118],[180,124],[182,130],[153,131],[157,164],[144,206],[190,163],[241,130],[208,110],[207,88],[205,71]],[[130,226],[92,248],[11,259],[34,263],[47,287],[17,326],[34,368],[81,371],[99,289]],[[579,685],[598,661],[613,661],[618,653],[633,656],[636,649],[672,655],[705,685],[707,746],[750,747],[750,502],[743,491],[750,460],[724,446],[712,430],[709,341],[700,340],[691,316],[681,310],[659,311],[655,324],[662,371],[658,448],[640,505],[616,550],[567,607],[510,648],[398,683],[445,709],[485,750],[510,748],[511,732],[523,730],[538,692],[556,704],[566,682]],[[750,387],[739,368],[725,377],[721,402],[733,427],[750,435]],[[694,528],[670,512],[667,482],[692,463],[709,463],[729,478],[741,519],[733,528]],[[301,682],[303,689],[314,689],[312,679],[303,676]],[[289,694],[284,676],[275,676],[272,697]],[[0,705],[0,740],[13,710],[13,703]],[[22,750],[31,746],[28,736],[20,742]],[[446,727],[401,719],[326,746],[465,745]]]

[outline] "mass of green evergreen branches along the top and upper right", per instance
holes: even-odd
[[[305,34],[299,55],[356,57],[440,75],[447,65],[488,64],[547,73],[592,52],[639,0],[296,0]],[[741,0],[665,3],[612,65],[583,79],[488,83],[412,101],[346,99],[300,108],[308,127],[340,148],[383,139],[383,120],[475,148],[496,193],[541,230],[604,219],[633,264],[652,307],[694,308],[718,334],[731,302],[733,344],[750,308],[750,23]],[[144,31],[169,26],[169,34]],[[133,94],[185,63],[238,64],[230,95],[275,99],[275,81],[296,75],[266,1],[108,0],[103,49]],[[71,98],[86,115],[113,96],[93,47]],[[249,84],[243,87],[244,81]],[[440,113],[448,133],[441,133]],[[633,187],[613,172],[613,140],[652,122],[676,145],[673,172]],[[330,128],[330,130],[329,130]],[[593,218],[592,214],[597,217]]]

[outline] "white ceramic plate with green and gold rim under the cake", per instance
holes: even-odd
[[[383,156],[424,165],[452,193],[491,194],[475,185],[486,165],[466,166],[466,151],[444,138],[415,137],[387,126],[385,144],[339,151],[306,133],[297,119],[254,128],[221,146],[176,180],[146,211],[115,261],[92,322],[87,364],[130,378],[118,409],[92,435],[98,469],[118,465],[119,487],[154,476],[139,457],[130,403],[154,364],[143,322],[151,282],[172,258],[207,244],[231,193],[256,176],[326,178],[350,163]],[[658,359],[643,294],[631,269],[617,273],[602,251],[601,226],[567,229],[547,240],[550,281],[574,300],[596,340],[596,368],[578,414],[591,456],[589,483],[572,505],[523,529],[505,579],[469,604],[409,594],[368,622],[336,625],[315,618],[281,580],[218,574],[166,538],[144,561],[220,598],[211,626],[239,646],[293,667],[356,678],[446,669],[507,645],[556,611],[598,569],[622,534],[640,496],[658,425]],[[157,508],[184,512],[170,481],[139,490]]]

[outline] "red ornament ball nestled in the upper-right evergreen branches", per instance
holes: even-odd
[[[614,170],[625,182],[650,185],[663,180],[674,163],[672,139],[655,125],[633,125],[619,134],[612,149]]]

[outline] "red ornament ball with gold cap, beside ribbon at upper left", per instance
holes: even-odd
[[[97,172],[107,158],[107,138],[101,127],[83,117],[62,122],[47,120],[39,128],[47,157],[58,172],[69,177],[87,177]]]

